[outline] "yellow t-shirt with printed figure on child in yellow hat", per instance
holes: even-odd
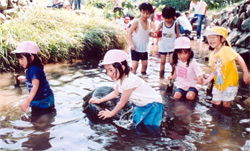
[[[210,54],[209,65],[213,68],[214,86],[219,91],[238,86],[239,74],[235,62],[238,56],[239,54],[228,46],[223,46],[216,54]]]

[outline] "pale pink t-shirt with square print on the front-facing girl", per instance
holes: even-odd
[[[204,72],[201,70],[200,65],[192,59],[188,67],[186,62],[178,60],[176,74],[177,88],[187,91],[190,87],[195,87],[199,90],[199,87],[196,86],[197,78],[204,74]]]

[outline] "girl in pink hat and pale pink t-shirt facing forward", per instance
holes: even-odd
[[[200,65],[193,59],[194,53],[190,47],[190,39],[179,37],[175,40],[173,54],[174,74],[168,79],[177,77],[177,89],[174,93],[174,99],[179,100],[183,96],[188,100],[194,100],[198,95],[202,84],[203,72]],[[198,82],[199,81],[199,82]]]

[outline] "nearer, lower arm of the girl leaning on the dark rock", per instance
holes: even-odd
[[[135,89],[136,88],[124,90],[122,93],[121,99],[116,104],[115,108],[112,111],[109,111],[108,109],[105,109],[104,111],[100,111],[98,114],[99,118],[102,118],[103,120],[105,120],[106,118],[111,118],[115,116],[115,114],[118,113],[124,107],[124,105],[128,102],[129,97],[131,96],[132,92]]]

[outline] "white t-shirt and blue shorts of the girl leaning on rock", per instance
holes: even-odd
[[[141,123],[145,126],[160,127],[163,115],[162,98],[152,87],[133,73],[129,73],[122,84],[118,80],[117,86],[120,93],[124,90],[136,88],[129,98],[129,101],[136,105],[133,114],[136,128],[140,127]]]

